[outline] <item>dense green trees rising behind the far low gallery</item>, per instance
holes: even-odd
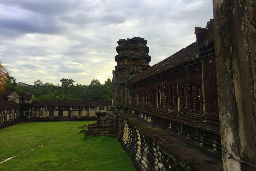
[[[61,85],[34,81],[34,85],[16,83],[16,79],[5,73],[5,91],[30,91],[34,93],[33,100],[108,100],[112,99],[112,81],[106,80],[101,84],[99,80],[91,80],[89,86],[74,84],[72,79],[61,79]],[[1,92],[0,92],[1,96]],[[1,97],[0,97],[1,99]]]

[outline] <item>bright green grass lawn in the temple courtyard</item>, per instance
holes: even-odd
[[[84,138],[78,127],[94,122],[32,122],[0,129],[0,162],[17,155],[1,163],[0,171],[135,170],[116,138]]]

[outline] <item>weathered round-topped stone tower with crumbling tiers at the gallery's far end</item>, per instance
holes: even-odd
[[[140,37],[120,39],[116,47],[118,55],[115,57],[117,66],[113,70],[113,98],[114,106],[125,105],[128,102],[126,83],[131,77],[149,68],[149,47],[147,40]],[[124,96],[125,95],[125,96]]]

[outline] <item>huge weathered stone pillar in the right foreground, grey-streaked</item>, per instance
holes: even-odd
[[[256,18],[254,0],[213,0],[222,148],[256,165]],[[224,170],[255,168],[227,159]]]

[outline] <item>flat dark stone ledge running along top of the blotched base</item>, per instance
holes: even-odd
[[[223,170],[222,161],[189,147],[188,142],[185,140],[172,136],[163,129],[148,122],[141,121],[130,114],[123,113],[122,116],[129,124],[152,138],[159,145],[161,151],[170,156],[184,170]]]

